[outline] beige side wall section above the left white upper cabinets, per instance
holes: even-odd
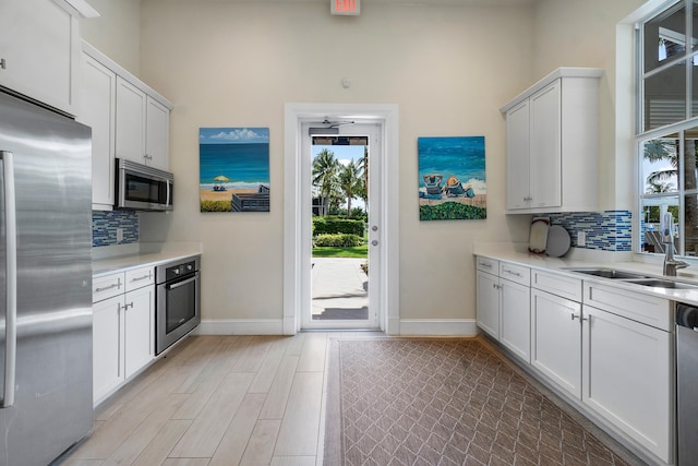
[[[100,14],[83,19],[82,37],[121,67],[141,71],[141,0],[87,0]]]

